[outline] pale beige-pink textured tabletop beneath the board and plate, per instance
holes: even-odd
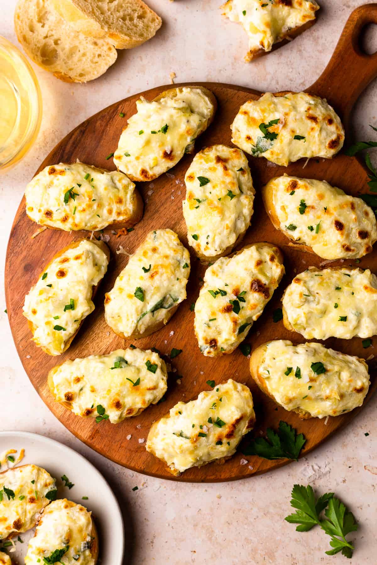
[[[251,64],[242,60],[246,34],[236,24],[222,20],[218,10],[221,3],[150,0],[150,7],[162,16],[161,31],[145,45],[121,51],[116,64],[88,85],[63,84],[34,66],[44,96],[44,117],[34,148],[16,168],[0,176],[2,274],[8,233],[25,184],[42,158],[82,120],[129,94],[167,84],[173,71],[177,81],[223,81],[260,90],[303,89],[322,71],[346,18],[362,2],[322,0],[319,21],[313,28],[283,49]],[[17,44],[12,25],[14,4],[14,0],[0,0],[1,33]],[[372,44],[377,47],[377,38]],[[376,102],[375,81],[354,112],[353,127],[359,139],[373,138],[367,124],[377,125]],[[274,473],[214,485],[146,478],[107,462],[81,444],[38,398],[21,367],[3,314],[3,276],[1,279],[1,429],[27,430],[53,437],[97,465],[123,508],[127,548],[124,564],[345,563],[340,555],[324,554],[330,547],[326,534],[318,529],[297,533],[294,525],[283,520],[289,513],[293,484],[308,482],[320,493],[333,490],[343,497],[361,524],[359,531],[351,536],[357,550],[347,563],[376,562],[377,399],[372,399],[344,432],[307,459]],[[174,331],[174,321],[171,324]],[[377,340],[376,350],[371,352],[377,353]],[[29,354],[33,355],[32,343]],[[137,436],[136,424],[135,420]],[[365,432],[370,435],[366,437]],[[70,479],[74,481],[74,477]],[[136,485],[139,490],[132,492]],[[113,564],[107,563],[104,556],[102,565]]]

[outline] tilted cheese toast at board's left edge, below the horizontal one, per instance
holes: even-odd
[[[81,244],[87,244],[87,245],[81,246]],[[80,246],[82,247],[81,251],[79,249]],[[82,262],[81,259],[84,258],[85,251],[89,251],[88,247],[90,246],[93,246],[93,251],[92,251],[92,253],[94,254],[93,262],[94,262],[94,258],[97,260],[97,264],[94,267],[94,270],[96,270],[97,268],[97,272],[90,273],[91,266],[90,266],[90,259],[88,259],[88,261],[85,263],[86,267],[88,268],[88,276],[86,278],[83,276],[80,279],[80,277],[73,276],[73,278],[71,278],[71,284],[70,284],[70,280],[67,279],[68,284],[66,285],[66,289],[64,289],[63,292],[63,289],[60,288],[60,292],[58,293],[57,298],[55,298],[55,300],[53,293],[50,294],[46,291],[46,296],[45,296],[43,294],[43,287],[45,283],[46,286],[51,285],[50,288],[51,290],[53,290],[55,281],[64,279],[67,276],[68,272],[71,271],[74,271],[73,275],[75,275],[75,271],[79,271],[80,269],[83,268],[84,263]],[[102,253],[98,253],[97,257],[95,255],[96,247],[99,247],[99,250],[102,251]],[[70,251],[71,249],[77,249],[77,255],[73,256],[73,261],[71,260],[72,259],[71,257],[70,258],[62,257],[62,255],[66,254],[66,252]],[[62,259],[58,261],[60,257],[62,257]],[[37,284],[34,285],[29,291],[29,293],[26,295],[23,315],[25,316],[25,318],[28,319],[28,326],[33,334],[33,341],[36,343],[38,347],[41,347],[41,349],[45,351],[45,353],[47,353],[48,355],[60,355],[64,353],[64,351],[67,351],[68,347],[72,343],[73,338],[76,336],[77,332],[79,331],[84,319],[88,314],[90,314],[90,312],[94,310],[92,298],[94,298],[94,295],[96,295],[99,283],[101,282],[103,276],[106,273],[109,259],[110,259],[109,247],[107,247],[107,245],[103,243],[103,241],[97,241],[97,240],[91,241],[85,239],[75,241],[70,245],[67,245],[67,247],[64,247],[64,249],[59,251],[59,253],[57,253],[57,255],[55,255],[53,259],[51,259],[50,263],[41,272]],[[61,264],[61,266],[57,267],[57,263],[59,265]],[[70,266],[69,270],[68,270],[68,266]],[[49,274],[49,269],[51,269],[50,274]],[[88,288],[91,279],[93,281],[98,280],[98,282],[97,284],[94,284],[90,286],[90,288]],[[52,282],[48,282],[49,280]],[[40,288],[39,291],[38,288]],[[38,300],[37,303],[35,302],[36,297]],[[67,306],[70,305],[71,297],[73,299],[73,308],[66,308],[65,303],[67,303]],[[80,310],[78,310],[78,307],[80,307]],[[43,310],[42,310],[42,323],[38,325],[36,322],[40,320],[39,318],[37,318],[37,316],[39,316],[38,310],[40,310],[40,308],[42,309],[46,308],[48,315],[43,316]],[[77,317],[77,319],[73,321],[73,324],[72,324],[72,319],[70,319],[71,316],[69,316],[70,314],[72,314],[72,312],[75,312],[75,314],[72,317],[73,318]],[[55,316],[59,316],[59,318],[56,318]],[[77,321],[79,321],[79,325],[75,327],[74,323],[77,323]],[[63,332],[68,331],[69,334],[70,331],[68,329],[68,326],[64,328],[64,326],[61,325],[63,323],[66,325],[67,323],[70,324],[71,329],[74,330],[73,333],[68,335],[67,338],[65,337]],[[63,329],[55,330],[52,328],[53,324],[58,325]],[[38,335],[35,336],[38,328],[40,327],[42,328],[41,333],[38,332]],[[49,332],[55,332],[55,333],[52,336],[49,336]],[[63,337],[63,340],[61,340],[60,337],[58,338],[58,336]]]

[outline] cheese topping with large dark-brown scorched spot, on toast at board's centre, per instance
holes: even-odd
[[[276,253],[267,245],[250,245],[207,268],[194,321],[203,355],[231,353],[245,339],[284,274]]]

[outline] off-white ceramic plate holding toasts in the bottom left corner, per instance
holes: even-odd
[[[43,467],[57,479],[58,498],[68,498],[93,512],[99,537],[99,559],[101,565],[122,565],[124,553],[124,529],[122,514],[110,486],[92,463],[70,447],[59,444],[48,437],[29,432],[0,432],[0,453],[16,449],[25,450],[25,457],[19,463],[34,463]],[[15,454],[17,457],[18,453]],[[5,471],[5,469],[2,469]],[[66,475],[74,486],[68,489],[60,479]],[[83,500],[87,496],[88,500]],[[20,534],[23,544],[14,538],[16,551],[5,551],[12,559],[23,562],[29,539],[34,530]]]

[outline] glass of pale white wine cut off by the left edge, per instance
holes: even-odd
[[[0,36],[0,172],[30,149],[41,118],[42,98],[35,73],[24,55]]]

